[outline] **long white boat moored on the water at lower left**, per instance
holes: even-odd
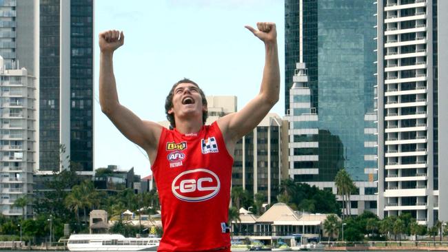
[[[156,251],[161,238],[125,238],[118,234],[70,235],[70,251]]]

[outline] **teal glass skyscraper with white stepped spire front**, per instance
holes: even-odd
[[[345,168],[352,214],[376,212],[375,13],[369,0],[285,1],[289,177],[336,193]]]

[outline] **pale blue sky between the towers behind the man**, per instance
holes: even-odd
[[[134,167],[151,174],[145,151],[126,139],[99,106],[98,34],[123,30],[114,53],[119,101],[143,120],[166,120],[165,97],[174,83],[190,78],[205,95],[237,96],[238,109],[260,88],[263,42],[244,25],[276,23],[281,71],[280,101],[271,112],[283,116],[284,2],[282,0],[98,0],[94,1],[94,168]]]

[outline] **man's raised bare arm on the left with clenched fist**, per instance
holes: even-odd
[[[123,32],[109,30],[99,34],[99,103],[101,111],[123,135],[145,149],[153,161],[162,127],[156,123],[143,121],[130,109],[119,103],[112,58],[114,51],[124,43]]]

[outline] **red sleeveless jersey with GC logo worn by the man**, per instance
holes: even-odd
[[[230,247],[226,223],[232,165],[216,122],[197,134],[163,128],[151,168],[162,211],[159,251]]]

